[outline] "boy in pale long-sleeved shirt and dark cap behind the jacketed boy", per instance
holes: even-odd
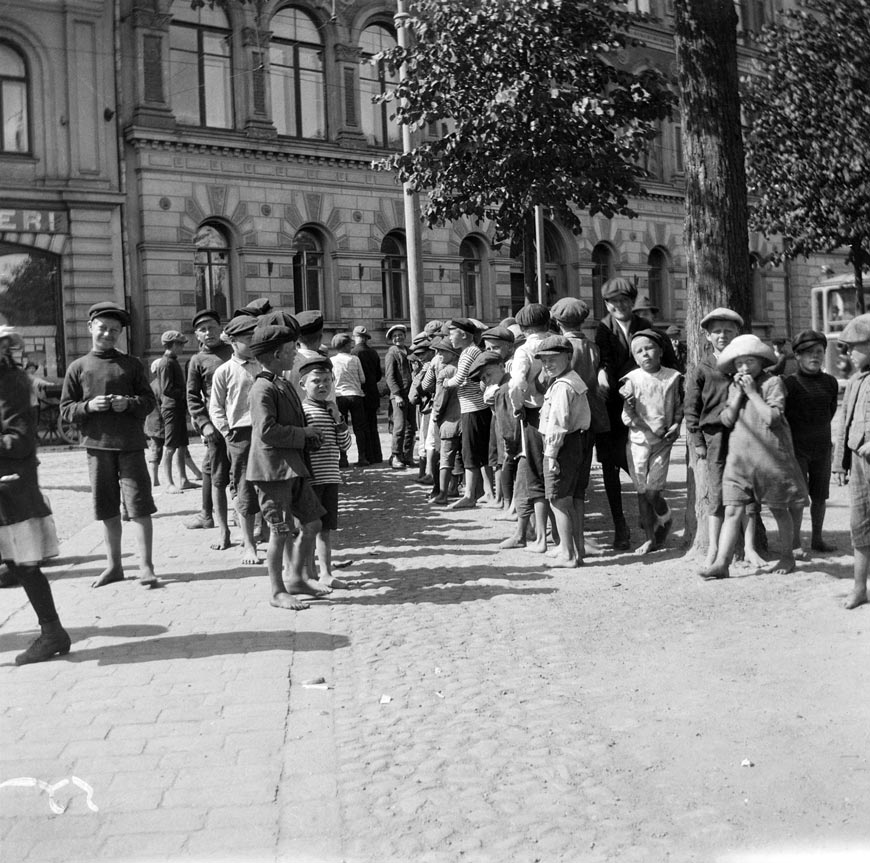
[[[254,536],[254,522],[260,504],[256,489],[246,478],[253,429],[251,387],[261,371],[260,363],[248,347],[256,328],[257,318],[247,314],[237,315],[224,327],[233,355],[215,370],[208,402],[212,423],[226,441],[230,458],[230,487],[235,494],[234,505],[242,531],[243,566],[256,566],[260,561]],[[224,538],[212,548],[229,548],[229,542],[224,544]]]

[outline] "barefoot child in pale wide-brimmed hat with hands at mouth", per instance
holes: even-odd
[[[807,504],[807,486],[794,455],[791,430],[785,419],[785,385],[782,378],[765,371],[774,365],[773,351],[757,336],[738,336],[716,363],[733,375],[722,425],[731,429],[722,478],[725,520],[719,551],[704,578],[728,578],[728,566],[740,535],[747,505],[767,504],[779,531],[780,557],[769,572],[791,572],[794,519]]]

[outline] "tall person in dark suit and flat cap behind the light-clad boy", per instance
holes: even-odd
[[[601,287],[601,296],[607,314],[598,324],[595,344],[601,354],[598,387],[607,406],[610,431],[595,435],[595,448],[598,461],[601,462],[604,491],[613,518],[613,548],[625,551],[630,545],[631,531],[622,509],[619,472],[624,470],[628,473],[628,428],[622,422],[623,400],[619,394],[619,380],[637,368],[629,350],[632,335],[640,330],[653,329],[653,323],[634,311],[637,288],[628,279],[609,279]],[[662,365],[676,368],[676,356],[670,342],[667,342],[662,355]]]

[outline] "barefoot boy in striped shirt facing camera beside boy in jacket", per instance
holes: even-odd
[[[316,551],[319,581],[324,587],[347,587],[332,574],[332,531],[338,527],[338,487],[341,485],[339,460],[350,449],[350,431],[334,401],[329,401],[335,382],[332,363],[326,357],[312,357],[299,366],[299,384],[305,391],[302,410],[307,424],[321,433],[321,445],[308,452],[311,462],[311,487],[326,514],[320,519]],[[313,561],[309,577],[315,578]]]

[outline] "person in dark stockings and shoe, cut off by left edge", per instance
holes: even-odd
[[[70,638],[39,568],[41,560],[57,555],[57,536],[37,479],[30,380],[12,358],[20,345],[12,327],[0,327],[0,556],[24,588],[42,630],[15,657],[16,665],[27,665],[69,653]]]

